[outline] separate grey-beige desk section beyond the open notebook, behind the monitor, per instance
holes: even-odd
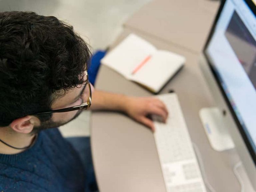
[[[124,26],[199,53],[212,26],[220,1],[153,0]]]

